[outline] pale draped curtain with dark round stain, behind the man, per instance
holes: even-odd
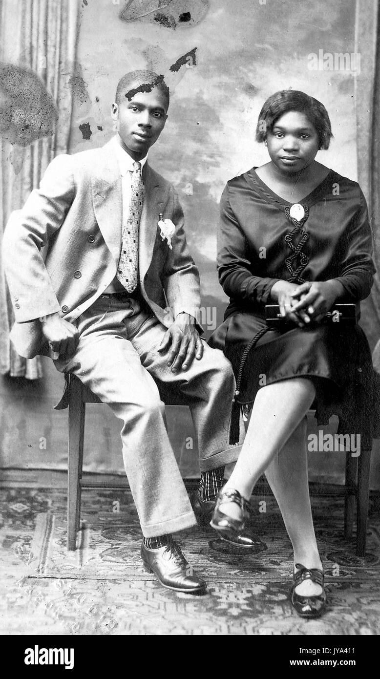
[[[4,124],[0,126],[0,239],[12,210],[22,207],[31,190],[39,185],[52,158],[58,153],[66,153],[69,147],[73,103],[70,79],[75,73],[79,9],[78,0],[0,0],[0,62],[3,67],[0,71],[0,90],[1,75],[4,85],[4,74],[7,73],[12,92],[20,96],[18,90],[22,86],[25,89],[26,83],[26,80],[22,80],[22,73],[26,74],[24,77],[29,73],[29,98],[33,96],[30,80],[34,77],[37,84],[35,92],[46,92],[46,100],[52,102],[50,109],[47,105],[46,111],[54,114],[53,125],[49,130],[49,125],[43,120],[43,113],[37,111],[41,116],[41,124],[35,140],[30,143],[28,139],[7,139],[5,133],[1,135]],[[3,94],[4,120],[7,105],[9,102],[6,96],[4,102]],[[27,106],[24,120],[30,115],[28,109]],[[47,129],[48,136],[43,136]],[[14,256],[17,257],[17,253]],[[0,371],[12,377],[39,378],[39,358],[22,359],[10,343],[9,333],[13,322],[12,305],[0,259]]]

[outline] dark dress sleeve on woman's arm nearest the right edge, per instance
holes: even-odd
[[[341,242],[341,274],[339,280],[345,289],[344,299],[360,301],[371,292],[373,285],[373,265],[371,227],[368,221],[366,199],[360,190],[360,207],[349,223]]]

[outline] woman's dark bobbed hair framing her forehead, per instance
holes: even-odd
[[[319,148],[328,149],[333,136],[328,113],[318,99],[300,90],[279,90],[267,98],[259,114],[256,141],[265,141],[267,132],[271,132],[278,119],[288,111],[304,113],[317,130]]]

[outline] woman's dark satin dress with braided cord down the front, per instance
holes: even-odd
[[[218,274],[230,297],[225,321],[214,331],[210,346],[223,350],[238,374],[242,353],[265,323],[265,304],[275,304],[271,288],[290,280],[300,263],[305,281],[339,280],[344,295],[338,303],[358,303],[371,291],[375,267],[366,202],[359,185],[330,170],[300,201],[307,219],[308,239],[292,261],[285,236],[294,226],[288,218],[292,203],[280,198],[254,168],[227,183],[221,199]],[[302,232],[292,237],[297,247]],[[289,268],[288,268],[289,267]],[[271,329],[248,354],[239,401],[251,404],[263,384],[308,377],[316,386],[318,424],[339,416],[339,433],[360,433],[362,447],[379,435],[379,384],[362,329],[342,323],[300,329]],[[376,403],[377,400],[377,403]],[[374,416],[375,415],[375,416]]]

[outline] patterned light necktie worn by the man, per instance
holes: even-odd
[[[123,238],[116,278],[132,293],[138,282],[138,225],[144,200],[144,184],[141,176],[141,163],[134,163],[132,172],[132,191],[128,219],[123,224]]]

